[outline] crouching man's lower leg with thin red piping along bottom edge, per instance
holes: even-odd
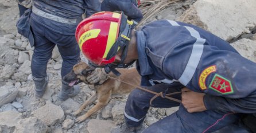
[[[181,104],[174,114],[152,124],[143,132],[214,132],[238,121],[239,114],[204,111],[189,113]],[[239,131],[242,131],[240,128]],[[246,130],[243,130],[246,132]]]

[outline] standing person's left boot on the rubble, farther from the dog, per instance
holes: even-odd
[[[32,76],[32,79],[34,81],[34,92],[35,92],[34,95],[36,97],[42,97],[48,85],[49,76],[46,75],[46,77],[42,77],[42,78],[36,78]]]

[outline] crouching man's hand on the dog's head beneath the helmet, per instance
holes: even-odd
[[[88,81],[88,83],[91,84],[95,84],[98,83],[99,84],[103,84],[104,81],[106,81],[108,79],[108,75],[105,72],[104,68],[96,68],[91,75],[89,75],[86,80]]]

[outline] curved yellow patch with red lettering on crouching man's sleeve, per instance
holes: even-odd
[[[205,68],[203,72],[201,72],[200,76],[199,76],[199,87],[201,89],[207,89],[207,86],[205,85],[205,80],[207,78],[208,75],[210,75],[211,73],[216,72],[216,66],[212,65],[208,68]]]

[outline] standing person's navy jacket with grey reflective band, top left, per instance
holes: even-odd
[[[76,26],[82,21],[82,14],[86,11],[86,17],[90,17],[100,11],[100,2],[99,0],[33,0],[32,10],[31,18],[34,21],[53,32],[72,36],[75,35]],[[54,21],[49,17],[46,18],[45,14],[68,22]]]

